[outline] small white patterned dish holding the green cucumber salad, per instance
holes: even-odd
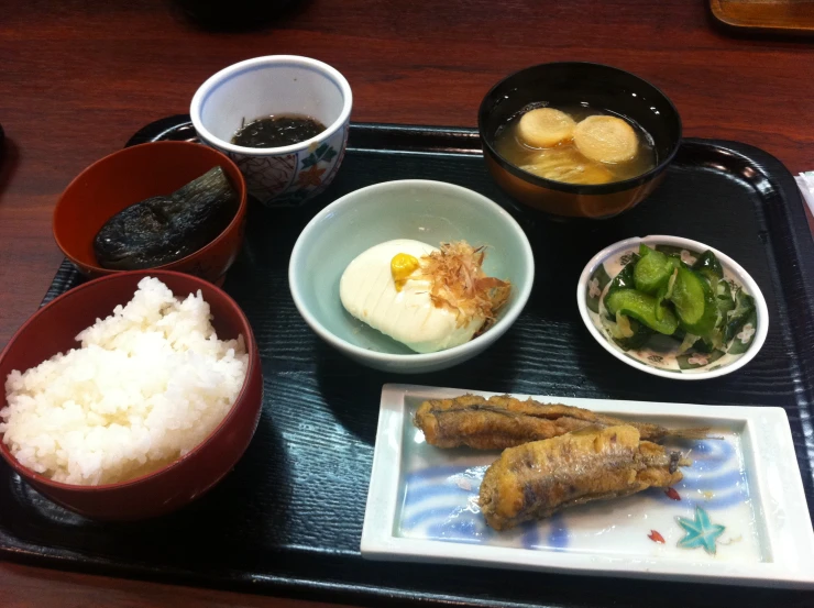
[[[639,244],[668,254],[680,255],[692,264],[705,251],[712,251],[724,268],[724,278],[741,287],[755,298],[755,312],[743,330],[726,344],[725,350],[712,353],[678,354],[679,343],[667,336],[654,336],[636,350],[625,351],[610,336],[603,323],[605,308],[602,302],[608,285],[622,268],[639,251]],[[576,303],[580,316],[591,334],[602,346],[628,365],[666,378],[701,380],[730,374],[749,363],[766,341],[769,331],[769,310],[757,283],[737,262],[714,247],[680,236],[653,235],[626,239],[597,253],[587,263],[576,286]]]

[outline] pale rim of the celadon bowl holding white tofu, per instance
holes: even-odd
[[[297,285],[298,265],[300,263],[300,258],[304,255],[305,242],[307,237],[314,230],[316,230],[316,225],[326,215],[336,212],[338,209],[352,207],[353,204],[355,204],[355,199],[358,199],[362,192],[366,194],[371,191],[382,190],[382,194],[385,194],[387,192],[387,190],[399,190],[403,188],[410,188],[415,186],[424,186],[435,188],[436,190],[444,190],[448,194],[455,195],[459,200],[463,199],[464,197],[466,197],[469,200],[477,200],[480,204],[485,207],[487,210],[493,211],[496,217],[502,218],[503,221],[509,226],[512,232],[515,233],[520,243],[520,247],[524,251],[524,258],[526,259],[527,264],[527,270],[524,276],[524,286],[517,291],[514,300],[507,306],[503,317],[498,319],[497,322],[492,328],[490,328],[488,331],[484,332],[477,338],[470,340],[464,344],[435,353],[393,354],[370,351],[339,338],[322,323],[320,323],[314,314],[311,314],[308,306],[305,303],[302,295],[300,294],[299,286]],[[432,363],[441,363],[449,360],[458,358],[458,356],[465,356],[468,354],[474,355],[481,352],[481,350],[487,349],[491,343],[503,335],[503,333],[508,330],[508,328],[510,328],[520,316],[520,312],[522,312],[522,309],[526,307],[526,303],[531,296],[534,280],[535,256],[531,251],[531,244],[529,243],[526,233],[522,231],[522,228],[520,228],[520,224],[517,223],[517,221],[508,213],[508,211],[506,211],[495,201],[480,192],[475,192],[474,190],[470,190],[469,188],[464,188],[463,186],[458,186],[457,184],[449,184],[447,181],[437,181],[432,179],[396,179],[392,181],[381,181],[378,184],[373,184],[371,186],[365,186],[364,188],[353,190],[352,192],[348,192],[343,197],[340,197],[336,201],[328,204],[319,213],[317,213],[314,219],[311,219],[311,221],[308,222],[308,224],[302,229],[302,232],[300,232],[299,236],[297,237],[297,242],[294,244],[294,248],[292,250],[292,257],[288,263],[288,287],[292,292],[292,298],[294,299],[294,303],[297,307],[297,310],[299,311],[302,319],[305,319],[306,323],[308,323],[308,325],[311,328],[311,330],[314,330],[315,333],[317,333],[317,335],[319,335],[322,340],[328,342],[337,350],[348,353],[349,355],[358,357],[360,360],[375,361],[382,364],[404,364],[407,366],[411,366],[413,364],[427,365]],[[337,297],[339,298],[339,294],[337,294]]]

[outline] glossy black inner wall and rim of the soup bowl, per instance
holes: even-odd
[[[586,103],[635,122],[652,139],[656,166],[640,176],[600,185],[553,181],[514,166],[497,153],[495,135],[529,103],[540,102],[551,108]],[[507,76],[483,98],[477,124],[487,152],[510,174],[543,188],[585,195],[618,192],[653,179],[681,142],[681,117],[662,91],[629,71],[583,62],[541,64]]]

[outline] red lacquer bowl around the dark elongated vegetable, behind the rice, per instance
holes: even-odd
[[[169,195],[220,165],[240,196],[231,223],[213,241],[186,257],[160,266],[220,283],[243,243],[246,185],[243,174],[217,150],[189,142],[156,142],[125,147],[97,161],[65,189],[54,208],[54,239],[88,277],[122,273],[102,268],[94,239],[105,223],[135,202]]]

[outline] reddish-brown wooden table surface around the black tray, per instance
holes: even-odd
[[[253,56],[333,65],[353,88],[356,121],[464,126],[508,73],[606,63],[664,90],[688,136],[746,142],[792,173],[814,169],[812,41],[727,32],[702,0],[302,0],[242,32],[207,31],[177,1],[0,3],[0,344],[62,259],[51,213],[68,181],[145,123],[188,111],[208,76]],[[244,21],[257,14],[240,10]],[[0,564],[0,598],[9,608],[298,604],[12,564]]]

